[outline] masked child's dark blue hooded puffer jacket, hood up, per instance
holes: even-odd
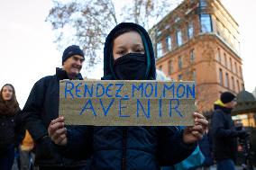
[[[120,23],[105,40],[104,77],[114,79],[112,41],[115,31],[133,27],[142,35],[147,54],[148,79],[155,79],[155,58],[148,33],[134,23]],[[182,130],[176,127],[95,127],[93,131],[92,169],[156,170],[188,157],[196,145],[183,142]],[[88,130],[69,131],[69,155],[87,153]],[[80,146],[78,146],[80,145]],[[81,149],[82,148],[82,149]],[[73,154],[70,154],[70,151]]]

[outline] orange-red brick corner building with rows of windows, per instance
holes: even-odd
[[[157,68],[175,80],[196,81],[199,112],[224,91],[244,89],[238,23],[219,0],[185,0],[150,31]]]

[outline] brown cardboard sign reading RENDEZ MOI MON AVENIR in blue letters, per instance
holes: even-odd
[[[59,115],[66,124],[191,126],[195,83],[173,81],[59,82]]]

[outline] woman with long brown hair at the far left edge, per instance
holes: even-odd
[[[0,169],[14,164],[14,148],[23,139],[23,119],[14,86],[5,84],[0,93]]]

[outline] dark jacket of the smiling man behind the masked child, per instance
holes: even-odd
[[[35,141],[35,164],[38,166],[82,166],[86,161],[62,157],[48,137],[50,121],[59,117],[59,80],[69,79],[66,71],[57,68],[56,75],[45,76],[35,83],[23,108],[26,128]],[[79,74],[78,79],[83,79]]]

